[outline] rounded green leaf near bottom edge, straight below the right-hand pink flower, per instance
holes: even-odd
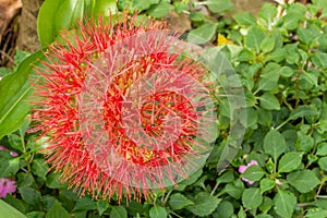
[[[242,194],[242,204],[247,209],[257,208],[263,203],[263,195],[257,187],[246,189]]]

